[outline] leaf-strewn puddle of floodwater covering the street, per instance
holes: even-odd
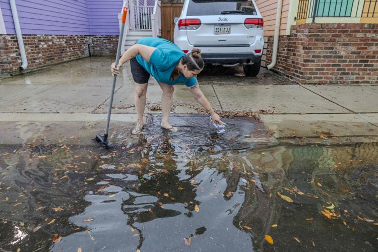
[[[0,146],[0,249],[377,247],[377,143],[269,146],[254,141],[265,131],[251,119],[226,121],[223,136],[206,134],[203,117],[175,120],[177,133],[153,118],[136,143],[112,151]]]

